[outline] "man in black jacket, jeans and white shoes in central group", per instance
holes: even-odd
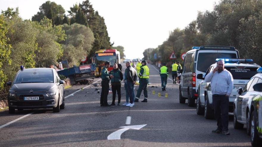
[[[127,69],[125,70],[125,77],[126,77],[126,84],[127,84],[127,91],[128,91],[128,95],[130,97],[130,103],[127,104],[126,106],[134,106],[134,84],[137,80],[137,75],[136,75],[136,70],[130,66],[130,62],[127,61],[126,62],[126,67]]]

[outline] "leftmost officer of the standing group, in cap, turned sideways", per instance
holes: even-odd
[[[109,92],[109,77],[110,78],[114,78],[113,75],[109,75],[108,74],[108,70],[107,68],[110,67],[110,62],[109,61],[105,61],[105,67],[102,69],[101,71],[101,86],[102,86],[102,90],[101,90],[101,96],[100,96],[100,106],[111,106],[107,103],[107,95]]]

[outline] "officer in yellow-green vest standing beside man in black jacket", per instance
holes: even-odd
[[[146,60],[143,60],[141,62],[142,66],[140,69],[140,72],[138,74],[138,77],[140,77],[139,80],[139,87],[137,90],[137,94],[135,97],[135,102],[138,102],[138,99],[140,98],[142,90],[144,90],[144,100],[141,102],[147,102],[147,84],[149,83],[149,68],[146,66]]]

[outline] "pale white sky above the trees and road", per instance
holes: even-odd
[[[46,0],[0,0],[0,10],[19,7],[23,19],[31,19]],[[50,0],[67,11],[83,0]],[[104,17],[110,41],[125,49],[126,59],[143,58],[143,51],[156,48],[176,28],[184,29],[197,12],[213,10],[220,0],[90,0]],[[67,13],[66,13],[67,14]]]

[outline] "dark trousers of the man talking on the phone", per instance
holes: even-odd
[[[213,94],[212,99],[217,129],[221,131],[228,131],[229,97],[226,97],[225,95]]]

